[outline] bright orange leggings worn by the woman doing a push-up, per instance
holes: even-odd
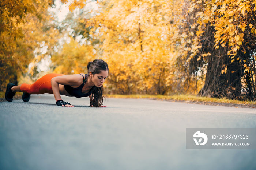
[[[56,74],[56,73],[50,73],[42,76],[40,79],[38,79],[33,84],[21,84],[20,90],[22,92],[26,92],[29,94],[43,94],[43,93],[50,93],[52,92],[52,84],[51,80],[54,77],[62,76],[64,74]]]

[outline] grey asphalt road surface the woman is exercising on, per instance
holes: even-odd
[[[186,149],[186,128],[256,128],[256,110],[31,95],[0,103],[1,170],[255,170],[254,149]]]

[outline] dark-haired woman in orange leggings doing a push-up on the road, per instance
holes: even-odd
[[[90,106],[102,106],[104,89],[102,84],[108,77],[108,64],[102,59],[96,59],[87,65],[88,74],[64,75],[50,73],[38,79],[33,84],[20,84],[14,86],[9,83],[5,92],[5,99],[12,102],[17,91],[23,92],[22,100],[29,102],[30,94],[53,94],[58,106],[74,107],[68,102],[61,100],[60,95],[74,96],[77,98],[90,98]]]

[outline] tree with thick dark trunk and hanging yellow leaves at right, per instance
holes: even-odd
[[[200,95],[255,100],[255,3],[192,1],[188,15],[196,17],[196,38],[188,60],[207,67]]]

